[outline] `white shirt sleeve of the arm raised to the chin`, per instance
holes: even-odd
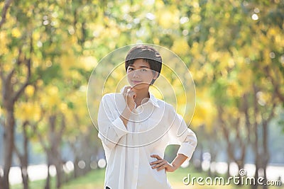
[[[112,103],[112,104],[111,104]],[[113,148],[121,137],[126,133],[126,127],[119,112],[115,109],[116,105],[113,99],[108,95],[103,96],[99,105],[98,125],[99,125],[99,138],[102,139],[104,146]]]

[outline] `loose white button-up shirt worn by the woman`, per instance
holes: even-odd
[[[151,168],[150,163],[156,160],[151,154],[163,158],[169,144],[180,144],[178,154],[190,159],[197,145],[195,133],[172,105],[151,93],[148,101],[133,111],[127,127],[119,118],[125,107],[122,93],[104,95],[99,105],[98,136],[107,158],[104,188],[171,188],[165,169]]]

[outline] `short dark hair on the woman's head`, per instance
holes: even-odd
[[[160,53],[153,47],[148,45],[138,45],[129,50],[129,53],[126,55],[125,59],[126,71],[129,65],[134,64],[136,59],[143,59],[144,61],[148,62],[150,69],[157,71],[158,76],[160,75],[160,70],[162,69],[162,57],[160,56]],[[153,84],[154,81],[155,79],[153,79],[151,84]]]

